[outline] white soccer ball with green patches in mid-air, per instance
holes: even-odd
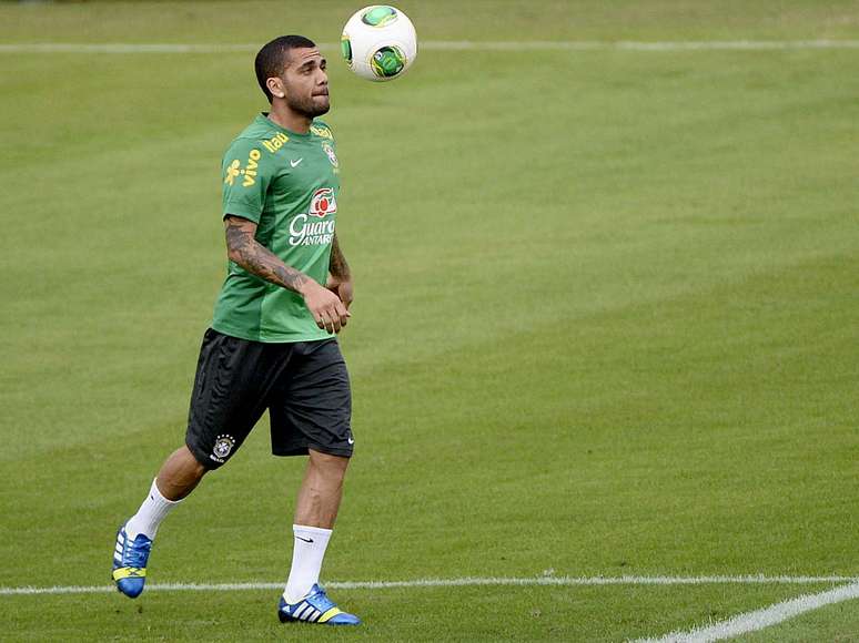
[[[403,75],[417,57],[417,37],[408,17],[386,4],[356,11],[340,40],[348,68],[363,79],[384,82]]]

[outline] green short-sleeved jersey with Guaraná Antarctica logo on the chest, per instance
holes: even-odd
[[[324,285],[340,192],[329,126],[314,121],[307,134],[297,134],[260,114],[230,144],[222,170],[223,215],[256,223],[260,244]],[[332,337],[316,326],[301,295],[233,262],[228,265],[212,328],[254,341]]]

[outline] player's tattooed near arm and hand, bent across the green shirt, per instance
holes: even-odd
[[[249,273],[257,277],[299,293],[304,297],[316,326],[329,333],[338,333],[346,325],[348,312],[340,297],[320,286],[314,279],[292,266],[254,238],[256,224],[241,216],[228,214],[224,217],[226,229],[226,256]]]

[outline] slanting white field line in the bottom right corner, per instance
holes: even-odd
[[[636,643],[707,643],[709,641],[732,639],[740,634],[777,625],[788,619],[819,610],[826,605],[853,599],[859,599],[859,583],[836,588],[819,594],[804,594],[796,599],[776,603],[769,608],[755,610],[746,614],[737,614],[726,621],[719,621],[711,625],[694,627],[686,632],[671,632],[658,639],[639,639]]]

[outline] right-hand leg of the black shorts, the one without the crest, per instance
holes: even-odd
[[[289,367],[272,389],[269,410],[275,456],[309,449],[352,456],[352,390],[336,340],[294,346]]]

